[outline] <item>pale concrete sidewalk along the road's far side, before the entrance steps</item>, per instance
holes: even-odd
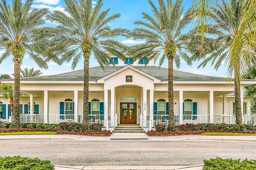
[[[0,135],[0,141],[13,140],[146,140],[146,141],[223,141],[223,142],[256,142],[256,135],[252,136],[147,136],[145,133],[113,133],[108,137],[81,135]]]

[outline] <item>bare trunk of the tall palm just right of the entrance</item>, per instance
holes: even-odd
[[[173,105],[173,55],[167,54],[168,58],[168,108],[169,122],[168,129],[174,126],[174,105]]]

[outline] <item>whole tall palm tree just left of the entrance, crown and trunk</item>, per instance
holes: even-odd
[[[83,94],[83,123],[88,125],[89,108],[89,58],[94,53],[100,66],[112,62],[110,55],[126,60],[123,50],[127,47],[113,38],[126,35],[127,29],[111,29],[108,24],[120,17],[120,14],[108,16],[110,8],[100,11],[103,5],[98,0],[95,6],[92,0],[65,0],[65,12],[54,11],[46,18],[56,22],[53,36],[55,54],[62,56],[62,61],[73,59],[72,69],[75,69],[79,60],[84,60],[84,94]],[[112,62],[113,63],[113,62]]]

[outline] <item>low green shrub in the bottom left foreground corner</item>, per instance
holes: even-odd
[[[0,170],[54,170],[50,161],[20,156],[0,157]]]

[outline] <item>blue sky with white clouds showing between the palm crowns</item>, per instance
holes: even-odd
[[[157,4],[157,0],[153,0],[155,4]],[[8,3],[11,3],[11,0],[7,0]],[[121,28],[127,28],[127,29],[133,29],[134,28],[134,21],[135,20],[141,20],[142,14],[141,12],[147,12],[149,14],[152,14],[151,7],[148,4],[147,0],[104,0],[103,10],[107,8],[111,8],[110,15],[114,13],[120,13],[121,17],[110,24],[111,28],[121,27]],[[95,2],[96,3],[96,2]],[[184,0],[183,5],[185,6],[185,10],[191,6],[190,0]],[[34,0],[33,7],[34,8],[42,8],[42,7],[48,7],[51,11],[53,10],[62,10],[64,11],[64,1],[62,0]],[[47,22],[46,25],[54,27],[55,24]],[[190,29],[190,26],[184,30],[187,31]],[[127,39],[125,37],[118,38],[118,41],[126,44],[126,45],[134,45],[131,43],[138,43],[138,41],[133,41],[132,38]],[[0,50],[0,55],[3,53],[3,51]],[[163,52],[161,52],[161,55]],[[197,66],[200,62],[194,62],[192,66],[186,65],[184,61],[181,62],[179,70],[196,73],[196,74],[202,74],[202,75],[213,75],[213,76],[226,76],[226,68],[223,65],[218,69],[218,71],[215,71],[211,65],[207,65],[205,68],[197,69]],[[9,74],[11,75],[13,73],[13,62],[11,57],[6,59],[2,62],[0,65],[0,74]],[[97,66],[98,63],[94,59],[94,56],[92,55],[90,58],[90,67]],[[156,64],[158,66],[158,61]],[[163,67],[167,67],[167,60],[162,65]],[[21,68],[32,68],[40,69],[33,61],[31,61],[27,56],[25,56],[23,63],[21,65]],[[77,67],[77,69],[83,68],[83,62],[81,61]],[[174,67],[177,69],[176,67]],[[44,70],[40,69],[43,73],[43,75],[52,75],[52,74],[58,74],[63,72],[71,71],[71,62],[70,63],[64,63],[62,66],[56,65],[55,63],[50,62],[49,63],[49,69]]]

